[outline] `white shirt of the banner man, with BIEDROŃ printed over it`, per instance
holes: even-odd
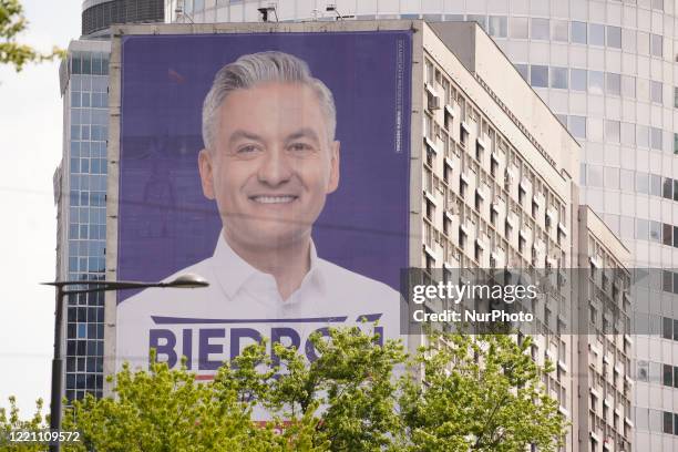
[[[359,325],[382,338],[400,338],[400,294],[376,281],[318,258],[311,243],[310,270],[300,287],[282,300],[275,278],[240,258],[219,234],[214,255],[166,280],[197,274],[209,287],[152,288],[117,307],[117,367],[129,361],[145,368],[150,349],[161,361],[177,367],[188,358],[189,369],[208,379],[224,360],[237,356],[258,338],[297,346],[309,360],[312,331]],[[363,318],[366,321],[363,321]]]

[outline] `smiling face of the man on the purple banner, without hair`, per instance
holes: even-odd
[[[310,235],[339,184],[339,143],[330,140],[309,86],[271,82],[226,97],[199,170],[232,244],[276,248]]]

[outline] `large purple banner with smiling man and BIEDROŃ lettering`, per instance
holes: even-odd
[[[408,267],[411,33],[127,35],[117,362],[151,348],[209,378],[267,338],[377,321]]]

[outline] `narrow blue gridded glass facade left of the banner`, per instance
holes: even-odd
[[[68,152],[62,167],[69,187],[69,280],[104,279],[106,246],[106,140],[109,135],[109,53],[70,52],[64,91]],[[66,164],[68,162],[68,164]],[[104,295],[68,299],[65,397],[97,397],[103,389]]]

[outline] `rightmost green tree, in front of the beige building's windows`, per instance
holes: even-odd
[[[523,452],[557,449],[567,423],[543,389],[526,338],[441,335],[415,364],[425,384],[405,382],[400,401],[410,451]]]

